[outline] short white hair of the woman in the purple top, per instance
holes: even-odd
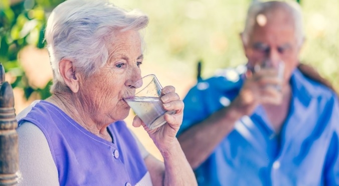
[[[51,92],[68,88],[59,72],[62,59],[71,60],[77,72],[89,77],[108,61],[107,41],[114,32],[138,31],[147,24],[143,13],[127,12],[104,0],[68,0],[57,6],[45,31],[53,70]]]

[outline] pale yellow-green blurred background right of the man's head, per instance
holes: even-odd
[[[339,90],[339,1],[302,1],[306,40],[301,60]]]

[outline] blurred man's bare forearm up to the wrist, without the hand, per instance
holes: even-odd
[[[204,121],[184,131],[178,140],[192,168],[197,168],[227,136],[243,114],[233,102],[210,115]]]

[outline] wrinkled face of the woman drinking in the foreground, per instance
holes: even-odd
[[[131,83],[141,78],[143,60],[137,31],[116,33],[108,48],[110,58],[104,67],[80,82],[80,97],[91,118],[111,123],[127,117],[130,107],[122,99]]]

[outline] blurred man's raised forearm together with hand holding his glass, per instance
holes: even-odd
[[[281,103],[282,93],[273,86],[267,85],[281,85],[281,81],[276,77],[276,72],[265,69],[255,73],[245,80],[238,96],[228,107],[221,108],[179,135],[178,140],[194,169],[211,155],[216,146],[233,130],[236,121],[242,116],[251,115],[259,104]],[[205,99],[205,96],[200,95],[199,97]],[[199,101],[203,102],[204,100]],[[198,105],[192,107],[195,108]],[[199,118],[199,114],[202,113],[190,111],[190,114],[193,118]],[[190,119],[193,119],[192,117]]]

